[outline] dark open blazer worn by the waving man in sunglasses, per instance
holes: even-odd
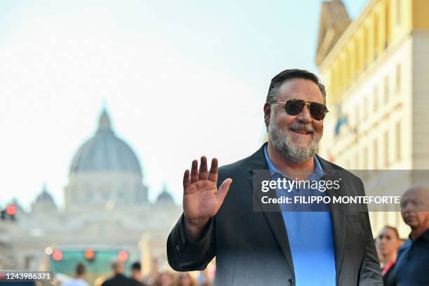
[[[173,269],[203,270],[216,257],[216,285],[295,284],[282,213],[255,212],[253,207],[254,170],[268,170],[264,146],[250,157],[219,168],[218,185],[228,177],[233,183],[198,243],[191,243],[186,238],[183,215],[180,217],[167,241],[168,262]],[[346,172],[320,157],[318,159],[325,179],[336,170]],[[336,192],[345,196],[365,196],[362,181],[350,172],[343,175],[341,189]],[[330,213],[336,285],[382,286],[368,213]]]

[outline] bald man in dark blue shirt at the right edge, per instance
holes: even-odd
[[[400,204],[402,219],[411,227],[411,233],[397,254],[397,285],[429,285],[429,189],[408,189]]]

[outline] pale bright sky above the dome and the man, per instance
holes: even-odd
[[[355,18],[367,0],[346,0]],[[314,64],[320,0],[0,1],[0,207],[69,168],[102,108],[135,151],[154,202],[177,203],[193,158],[220,165],[264,138],[271,78]]]

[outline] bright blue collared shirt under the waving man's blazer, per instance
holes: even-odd
[[[271,162],[266,147],[264,154],[272,179],[285,177]],[[325,175],[316,156],[314,165],[313,174],[308,178],[310,181],[319,180]],[[284,190],[276,190],[277,196],[282,191]],[[292,189],[292,193],[296,195],[301,191]],[[313,196],[324,196],[324,193],[315,191],[317,193],[313,193]],[[292,252],[295,285],[335,285],[334,237],[330,212],[283,210],[282,216]]]

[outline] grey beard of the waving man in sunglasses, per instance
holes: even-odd
[[[313,157],[315,151],[318,149],[320,140],[317,135],[314,135],[308,147],[300,147],[298,144],[294,144],[289,135],[284,134],[275,126],[273,114],[271,114],[270,125],[268,126],[268,137],[275,149],[277,149],[283,157],[294,163],[302,163],[308,158]]]

